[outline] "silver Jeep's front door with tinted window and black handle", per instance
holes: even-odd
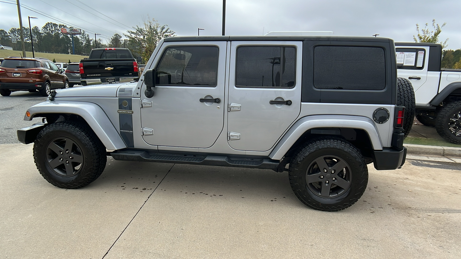
[[[226,41],[165,42],[154,58],[154,97],[141,91],[148,144],[213,146],[224,125]]]

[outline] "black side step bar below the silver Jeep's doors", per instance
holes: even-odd
[[[272,159],[231,159],[225,156],[182,156],[147,153],[145,151],[118,150],[110,153],[113,159],[123,161],[176,163],[189,165],[215,165],[277,170],[280,162]]]

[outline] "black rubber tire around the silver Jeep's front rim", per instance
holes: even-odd
[[[74,147],[78,147],[83,157],[83,163],[76,170],[75,175],[63,176],[58,174],[48,162],[51,160],[50,153],[53,153],[49,150],[48,144],[59,140],[59,138],[73,141]],[[81,188],[95,181],[104,171],[107,161],[106,148],[95,133],[86,124],[70,121],[61,121],[45,126],[35,139],[33,154],[35,165],[45,180],[59,188],[69,189]],[[63,163],[62,166],[65,164]]]

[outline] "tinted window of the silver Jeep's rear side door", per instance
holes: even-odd
[[[238,47],[235,85],[292,88],[295,69],[295,47]]]

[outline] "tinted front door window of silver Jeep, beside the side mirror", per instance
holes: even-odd
[[[169,47],[163,53],[155,83],[216,86],[218,47]]]

